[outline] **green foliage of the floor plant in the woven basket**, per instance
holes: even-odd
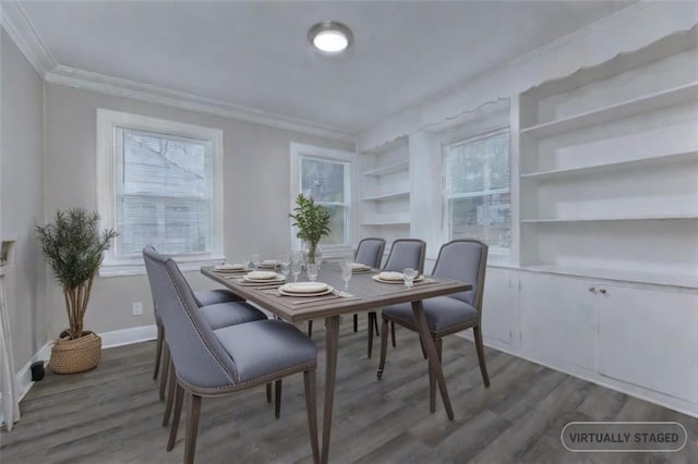
[[[92,284],[99,270],[104,252],[119,235],[113,229],[99,234],[99,215],[84,208],[56,211],[52,223],[36,227],[46,260],[63,288],[71,339],[83,335],[83,319]]]

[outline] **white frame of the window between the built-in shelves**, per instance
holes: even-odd
[[[440,192],[440,198],[441,198],[441,236],[442,236],[442,243],[446,243],[450,240],[453,240],[452,237],[452,222],[453,222],[453,218],[450,217],[450,211],[448,208],[448,200],[450,198],[465,198],[465,197],[472,197],[472,196],[481,196],[481,195],[474,195],[472,193],[467,193],[467,194],[459,194],[456,196],[452,196],[452,197],[446,197],[445,195],[445,190],[446,190],[446,164],[445,164],[445,155],[444,155],[444,149],[447,146],[450,145],[457,145],[457,144],[467,144],[469,142],[476,142],[479,139],[483,139],[483,138],[489,138],[492,137],[494,135],[497,134],[503,134],[503,133],[508,133],[509,134],[509,186],[508,188],[498,188],[498,190],[493,190],[493,191],[483,191],[481,194],[486,195],[486,194],[497,194],[497,193],[507,193],[509,194],[509,211],[510,211],[510,219],[509,219],[509,236],[510,236],[510,243],[509,243],[509,248],[508,251],[505,251],[504,248],[497,248],[497,247],[490,247],[490,255],[489,255],[489,261],[490,264],[502,264],[502,265],[506,265],[508,262],[510,262],[512,260],[512,256],[514,256],[514,246],[515,246],[515,228],[514,228],[514,188],[513,188],[513,180],[512,180],[512,172],[513,172],[513,168],[512,168],[512,127],[508,124],[503,124],[503,125],[496,125],[494,127],[490,126],[488,129],[483,129],[483,127],[478,127],[480,129],[478,130],[470,130],[470,131],[462,131],[462,132],[458,132],[457,135],[448,137],[447,139],[442,139],[440,143],[440,161],[441,161],[441,192]]]

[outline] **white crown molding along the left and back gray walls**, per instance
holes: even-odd
[[[21,2],[0,2],[0,25],[45,82],[115,97],[164,105],[220,118],[252,122],[318,137],[354,143],[358,134],[300,118],[256,110],[219,99],[143,84],[59,64],[37,35]]]

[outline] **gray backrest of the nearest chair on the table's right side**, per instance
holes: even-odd
[[[449,295],[482,309],[482,290],[488,267],[488,245],[479,240],[454,240],[442,245],[434,265],[435,277],[460,280],[472,284],[472,290]]]

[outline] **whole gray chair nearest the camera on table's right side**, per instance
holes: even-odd
[[[488,245],[477,240],[454,240],[441,247],[433,276],[460,280],[472,284],[472,290],[448,296],[436,296],[422,302],[429,331],[434,339],[438,358],[442,356],[442,338],[450,333],[472,328],[480,362],[480,374],[485,387],[490,377],[482,345],[482,293],[488,266]],[[404,303],[383,308],[383,340],[381,341],[381,364],[378,379],[383,375],[387,351],[388,322],[395,322],[417,332],[412,305]],[[432,370],[429,371],[430,411],[435,410],[436,387]]]

